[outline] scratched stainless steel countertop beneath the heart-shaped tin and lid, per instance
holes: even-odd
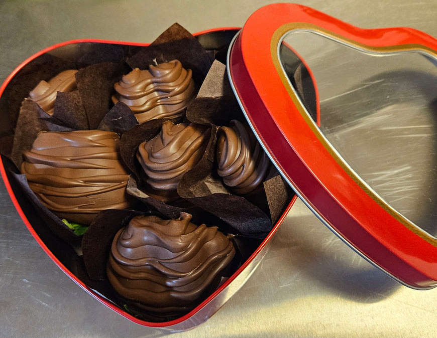
[[[273,2],[3,0],[0,83],[26,58],[59,42],[152,42],[174,22],[193,33],[241,27],[268,3]],[[434,0],[301,3],[358,27],[408,26],[437,37]],[[0,336],[170,335],[132,323],[85,293],[33,239],[3,183],[0,196]],[[298,201],[245,286],[205,323],[171,336],[435,336],[434,301],[435,289],[417,291],[393,281]]]

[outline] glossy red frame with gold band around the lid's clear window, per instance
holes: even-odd
[[[434,287],[437,240],[360,184],[320,137],[288,84],[278,45],[286,33],[302,29],[378,52],[420,50],[436,56],[437,40],[409,28],[364,30],[304,6],[274,4],[248,19],[228,55],[229,77],[242,109],[297,195],[384,272],[412,288]]]

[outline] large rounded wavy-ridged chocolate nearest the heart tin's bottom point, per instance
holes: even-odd
[[[221,278],[235,248],[217,227],[197,227],[190,220],[187,213],[173,220],[134,217],[112,243],[106,272],[114,289],[152,312],[196,306]]]

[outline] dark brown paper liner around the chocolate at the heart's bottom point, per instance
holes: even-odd
[[[79,267],[79,276],[86,282],[86,285],[96,290],[107,299],[115,302],[121,308],[126,308],[127,306],[129,311],[135,312],[136,315],[140,315],[141,318],[145,320],[171,320],[180,317],[193,309],[218,286],[224,283],[226,279],[228,279],[238,269],[242,262],[244,262],[254,252],[263,240],[263,238],[259,237],[246,237],[242,235],[234,236],[232,241],[234,242],[236,255],[233,261],[226,268],[226,271],[222,274],[223,277],[217,278],[214,283],[211,283],[210,288],[206,290],[205,294],[196,302],[193,302],[185,309],[178,308],[174,313],[171,313],[170,311],[170,314],[163,317],[162,315],[153,313],[153,311],[148,311],[144,308],[144,305],[138,302],[118,295],[108,282],[106,276],[107,257],[110,254],[115,234],[119,229],[125,227],[134,216],[141,214],[144,213],[127,210],[106,210],[100,212],[82,238],[81,246],[83,252],[83,266],[82,268]],[[148,212],[147,214],[156,215],[164,219],[166,218],[159,212]],[[204,211],[198,210],[198,212],[195,212],[192,216],[193,218],[191,222],[198,226],[202,223],[206,224],[208,227],[217,226],[224,234],[228,234],[228,230],[232,230],[228,224]],[[179,215],[177,217],[179,217]]]

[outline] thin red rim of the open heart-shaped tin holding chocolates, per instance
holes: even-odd
[[[205,35],[208,33],[214,33],[214,32],[221,32],[221,31],[232,31],[232,30],[239,30],[240,28],[217,28],[217,29],[210,29],[206,31],[202,31],[199,33],[194,34],[194,36],[198,37],[201,35]],[[50,47],[47,47],[40,52],[34,54],[33,56],[29,57],[25,61],[23,61],[4,81],[2,86],[0,86],[0,96],[3,95],[5,89],[7,88],[8,84],[11,82],[11,80],[17,75],[17,73],[26,66],[29,62],[32,60],[38,58],[39,56],[53,51],[57,48],[72,45],[72,44],[78,44],[78,43],[106,43],[106,44],[119,44],[119,45],[129,45],[129,46],[148,46],[148,43],[133,43],[133,42],[122,42],[122,41],[110,41],[110,40],[96,40],[96,39],[78,39],[78,40],[70,40],[65,41]],[[220,294],[225,288],[227,288],[247,267],[250,265],[254,259],[257,257],[257,255],[266,247],[267,243],[271,240],[272,236],[276,233],[281,223],[284,221],[285,217],[287,216],[289,210],[291,209],[292,205],[294,204],[294,201],[296,200],[296,196],[292,199],[290,204],[287,206],[286,210],[282,214],[281,218],[278,220],[278,222],[273,226],[273,229],[270,231],[270,233],[267,235],[267,237],[264,239],[264,241],[261,243],[261,245],[256,249],[256,251],[249,257],[249,259],[244,262],[242,266],[224,283],[222,284],[217,290],[215,290],[211,295],[209,295],[204,301],[202,301],[198,306],[196,306],[193,310],[188,312],[187,314],[171,320],[171,321],[165,321],[165,322],[150,322],[146,320],[139,319],[114,303],[112,303],[110,300],[107,300],[105,297],[101,296],[100,294],[96,293],[94,290],[89,288],[87,285],[85,285],[84,282],[82,282],[76,275],[74,275],[46,246],[44,241],[39,237],[39,235],[36,233],[35,229],[32,227],[31,223],[27,219],[23,209],[21,208],[14,192],[11,187],[11,184],[9,183],[5,166],[3,164],[3,161],[0,159],[0,174],[2,175],[3,181],[5,183],[6,189],[9,193],[9,196],[11,197],[11,200],[17,209],[20,217],[22,218],[23,222],[25,223],[26,227],[28,228],[29,232],[32,234],[32,236],[36,239],[38,244],[41,246],[41,248],[46,252],[46,254],[55,262],[55,264],[67,275],[69,276],[78,286],[80,286],[84,291],[86,291],[88,294],[90,294],[92,297],[100,301],[101,303],[105,304],[107,307],[113,309],[117,313],[123,315],[124,317],[130,319],[131,321],[144,325],[144,326],[150,326],[150,327],[161,327],[161,328],[169,328],[169,329],[175,329],[175,330],[186,330],[189,328],[192,328],[204,320],[206,320],[208,317],[199,318],[196,319],[193,323],[187,323],[184,325],[185,321],[189,321],[192,319],[193,316],[202,309],[204,309],[208,304],[214,300],[214,298]],[[219,307],[224,305],[225,302],[223,302],[220,306],[217,307],[216,310],[218,310]],[[215,312],[215,311],[214,311]],[[210,316],[210,315],[209,315]]]

